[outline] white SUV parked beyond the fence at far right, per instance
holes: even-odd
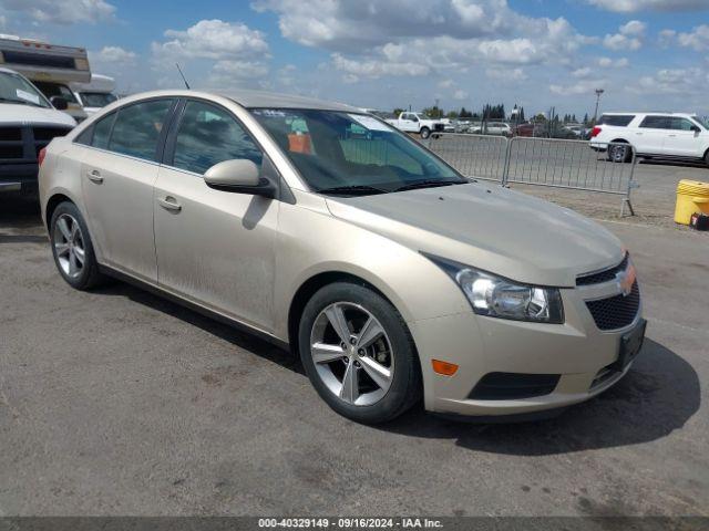
[[[631,145],[638,157],[702,159],[709,165],[709,124],[692,114],[604,114],[590,133],[590,146],[607,148],[609,160],[629,162],[633,154],[620,144]]]

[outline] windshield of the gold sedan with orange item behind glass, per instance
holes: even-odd
[[[469,183],[379,119],[336,111],[251,113],[316,191],[369,195]]]

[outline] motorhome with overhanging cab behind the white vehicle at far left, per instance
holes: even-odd
[[[91,81],[85,49],[0,34],[0,64],[24,75],[50,101],[64,100],[66,107],[63,111],[76,122],[86,118],[86,113],[69,87],[71,82]]]

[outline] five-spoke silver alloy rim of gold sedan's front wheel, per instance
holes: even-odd
[[[359,304],[336,302],[319,313],[310,355],[322,383],[347,404],[371,406],[391,386],[391,342],[377,317]]]

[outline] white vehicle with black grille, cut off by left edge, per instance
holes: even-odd
[[[0,191],[37,190],[40,150],[75,125],[27,77],[0,67]]]

